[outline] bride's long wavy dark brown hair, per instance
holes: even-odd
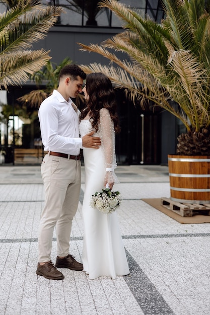
[[[101,72],[90,73],[86,78],[86,91],[89,95],[87,107],[82,111],[80,119],[84,119],[88,112],[91,117],[90,121],[93,129],[98,131],[98,124],[100,122],[99,111],[101,108],[106,108],[114,122],[115,132],[120,131],[119,119],[116,112],[116,99],[112,83],[108,76]]]

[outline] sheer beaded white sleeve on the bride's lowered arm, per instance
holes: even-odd
[[[116,155],[115,155],[115,132],[114,123],[110,117],[109,111],[106,108],[100,110],[100,129],[102,133],[101,146],[104,149],[105,154],[105,186],[107,183],[118,183],[117,176],[114,173],[114,169],[117,167]],[[111,186],[111,185],[109,185]],[[112,188],[112,187],[110,187]]]

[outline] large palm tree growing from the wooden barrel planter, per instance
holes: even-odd
[[[116,14],[125,31],[101,45],[80,45],[116,67],[82,67],[104,72],[143,107],[150,102],[180,119],[186,133],[178,137],[178,154],[210,155],[210,0],[163,0],[163,6],[165,19],[158,24],[116,0],[103,0],[100,7]]]

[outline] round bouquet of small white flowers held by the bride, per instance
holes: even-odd
[[[111,191],[109,188],[102,189],[101,192],[95,192],[91,196],[90,206],[103,213],[112,213],[121,203],[120,192]]]

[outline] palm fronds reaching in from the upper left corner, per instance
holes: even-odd
[[[11,9],[0,16],[0,89],[21,85],[51,59],[49,51],[30,48],[47,35],[63,10],[33,0],[8,4]]]

